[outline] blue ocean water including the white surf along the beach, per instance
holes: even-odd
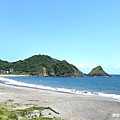
[[[112,77],[6,76],[5,84],[120,100],[120,75]]]

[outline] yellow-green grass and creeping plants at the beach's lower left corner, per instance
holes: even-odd
[[[22,117],[20,120],[28,120],[26,115],[31,114],[34,110],[40,111],[40,115],[38,118],[31,118],[29,120],[62,120],[61,118],[45,118],[42,114],[41,111],[43,110],[50,110],[54,112],[55,114],[59,114],[55,110],[53,110],[50,107],[39,107],[39,106],[32,106],[26,109],[22,110],[15,110],[13,109],[13,106],[16,107],[16,105],[20,105],[18,103],[14,103],[14,100],[7,100],[3,103],[0,103],[0,120],[18,120],[18,115]]]

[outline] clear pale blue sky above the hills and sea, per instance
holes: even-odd
[[[120,74],[120,0],[0,0],[0,59],[37,54]]]

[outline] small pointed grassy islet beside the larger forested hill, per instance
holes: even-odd
[[[108,73],[106,73],[101,66],[97,66],[91,70],[87,76],[109,76]]]

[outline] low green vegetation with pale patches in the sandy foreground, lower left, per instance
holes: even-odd
[[[4,103],[0,103],[0,120],[62,120],[61,118],[57,117],[44,117],[42,111],[50,110],[55,114],[59,114],[55,110],[50,107],[39,107],[39,106],[32,106],[26,109],[13,109],[12,105],[14,104],[13,100],[7,100]],[[48,113],[51,115],[51,113]]]

